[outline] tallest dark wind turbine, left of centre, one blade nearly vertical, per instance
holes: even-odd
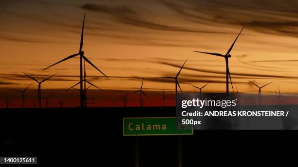
[[[75,56],[80,56],[79,58],[80,58],[80,106],[81,107],[84,107],[84,91],[83,91],[83,59],[87,62],[87,63],[89,63],[91,66],[93,66],[95,69],[97,69],[100,73],[102,73],[105,77],[107,77],[108,79],[109,79],[109,77],[108,76],[106,76],[106,74],[104,74],[101,70],[99,70],[97,67],[95,67],[95,65],[93,65],[93,63],[91,63],[91,61],[89,61],[85,56],[84,56],[84,51],[82,50],[82,48],[83,48],[83,38],[84,38],[84,24],[85,24],[85,15],[86,14],[84,14],[84,20],[83,20],[83,26],[82,26],[82,33],[81,33],[81,41],[80,41],[80,48],[79,48],[79,51],[78,51],[78,53],[75,53],[75,54],[73,54],[73,55],[70,55],[70,56],[68,56],[68,57],[66,57],[66,58],[64,58],[64,59],[62,59],[62,60],[60,60],[59,62],[57,62],[57,63],[55,63],[55,64],[53,64],[53,65],[51,65],[51,66],[49,66],[49,67],[52,67],[52,66],[54,66],[54,65],[56,65],[56,64],[58,64],[58,63],[61,63],[61,62],[64,62],[64,61],[66,61],[66,60],[68,60],[68,59],[71,59],[71,58],[74,58]],[[49,67],[46,67],[46,68],[44,68],[44,69],[47,69],[47,68],[49,68]],[[87,81],[86,81],[87,82]]]

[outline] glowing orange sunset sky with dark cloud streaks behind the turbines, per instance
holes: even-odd
[[[175,76],[188,59],[184,91],[211,81],[205,92],[224,92],[224,59],[193,50],[225,54],[244,27],[229,59],[238,90],[257,93],[253,81],[273,82],[266,93],[298,91],[297,0],[1,0],[0,99],[30,83],[36,93],[22,72],[57,74],[45,90],[78,82],[78,58],[42,69],[77,53],[84,12],[85,56],[110,77],[87,65],[87,78],[104,90],[137,90],[145,77],[144,91],[172,92],[174,81],[155,77]]]

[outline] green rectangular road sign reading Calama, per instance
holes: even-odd
[[[190,125],[189,125],[190,126]],[[125,117],[123,135],[186,135],[193,129],[178,127],[176,117]]]

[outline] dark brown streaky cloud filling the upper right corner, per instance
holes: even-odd
[[[195,23],[238,25],[256,32],[298,36],[297,0],[163,0],[169,9]],[[222,15],[224,13],[224,15]]]

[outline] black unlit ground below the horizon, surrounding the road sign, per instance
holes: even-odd
[[[123,117],[175,117],[175,108],[0,109],[0,156],[37,156],[38,165],[133,167],[135,137],[123,136]],[[183,167],[297,164],[297,134],[194,131],[182,136]],[[139,149],[140,167],[178,166],[177,136],[139,136]]]

